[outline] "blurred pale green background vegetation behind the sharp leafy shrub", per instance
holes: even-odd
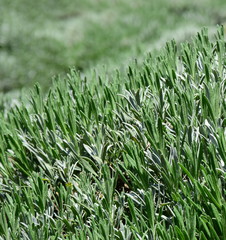
[[[0,0],[0,92],[127,67],[226,22],[225,0]]]

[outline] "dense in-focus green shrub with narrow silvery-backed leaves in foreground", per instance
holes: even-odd
[[[225,239],[225,47],[204,29],[127,77],[3,102],[1,238]]]

